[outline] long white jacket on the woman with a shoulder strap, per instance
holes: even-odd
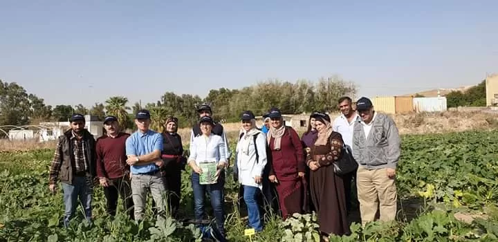
[[[255,176],[263,176],[263,170],[268,160],[266,157],[266,136],[261,131],[258,131],[256,135],[259,161],[256,160],[255,140],[253,136],[249,136],[247,140],[244,140],[244,137],[242,137],[241,140],[237,142],[235,154],[237,158],[237,168],[239,170],[239,183],[263,189],[262,183],[255,183]],[[247,144],[249,144],[247,153],[244,153],[243,146]]]

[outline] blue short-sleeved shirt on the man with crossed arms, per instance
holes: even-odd
[[[136,131],[126,141],[127,156],[143,156],[155,150],[163,151],[163,135],[156,131],[148,130],[145,133]],[[131,174],[146,174],[159,170],[156,164],[132,165]]]

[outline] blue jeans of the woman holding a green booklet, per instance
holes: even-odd
[[[197,222],[204,218],[204,195],[209,192],[216,225],[221,234],[225,234],[225,212],[223,211],[223,186],[225,178],[221,172],[218,182],[212,185],[199,184],[199,174],[192,172],[192,189],[194,190],[194,214]]]

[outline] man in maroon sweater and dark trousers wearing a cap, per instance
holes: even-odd
[[[107,212],[116,215],[118,194],[123,199],[124,209],[133,218],[133,198],[129,180],[129,165],[126,156],[126,140],[129,133],[120,131],[118,119],[107,116],[104,119],[104,136],[97,139],[95,151],[97,153],[97,176],[100,185],[104,187],[107,198]]]

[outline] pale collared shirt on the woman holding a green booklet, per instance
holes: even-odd
[[[195,160],[196,164],[199,162],[220,162],[226,160],[225,142],[221,136],[210,134],[210,136],[197,136],[194,142],[190,144],[189,160]]]

